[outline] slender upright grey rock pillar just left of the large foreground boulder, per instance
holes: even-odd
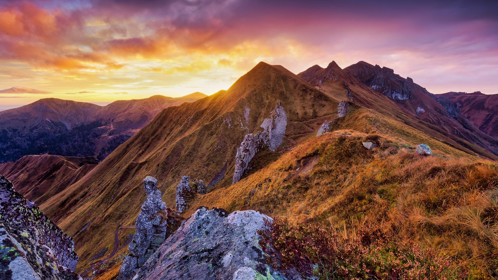
[[[161,201],[162,195],[157,189],[157,180],[147,176],[143,179],[143,187],[147,200],[142,204],[142,211],[136,218],[135,235],[128,246],[129,255],[121,265],[118,280],[130,279],[136,269],[141,267],[166,239],[170,210],[166,208],[166,203]]]

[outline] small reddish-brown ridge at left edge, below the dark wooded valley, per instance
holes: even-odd
[[[41,205],[85,176],[98,162],[91,156],[25,155],[0,164],[0,175],[11,181],[26,199]]]

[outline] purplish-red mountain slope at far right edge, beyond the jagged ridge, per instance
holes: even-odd
[[[447,98],[474,126],[498,139],[498,94],[447,92],[436,94]]]

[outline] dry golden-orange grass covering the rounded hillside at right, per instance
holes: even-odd
[[[305,141],[239,183],[197,196],[187,215],[201,205],[254,209],[324,223],[344,236],[384,224],[422,248],[463,260],[471,279],[497,276],[498,164],[461,157],[437,140],[435,154],[420,156],[416,142],[392,135],[339,130]],[[431,143],[423,133],[408,136]],[[367,150],[364,140],[378,147]],[[319,160],[307,173],[296,171],[311,157]]]

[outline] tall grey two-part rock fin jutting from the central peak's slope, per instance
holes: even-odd
[[[264,119],[260,127],[263,128],[262,132],[246,135],[241,146],[237,149],[232,184],[240,181],[244,171],[249,166],[250,160],[259,149],[268,147],[271,151],[275,151],[282,144],[287,127],[287,114],[285,114],[280,102],[271,111],[270,118]]]

